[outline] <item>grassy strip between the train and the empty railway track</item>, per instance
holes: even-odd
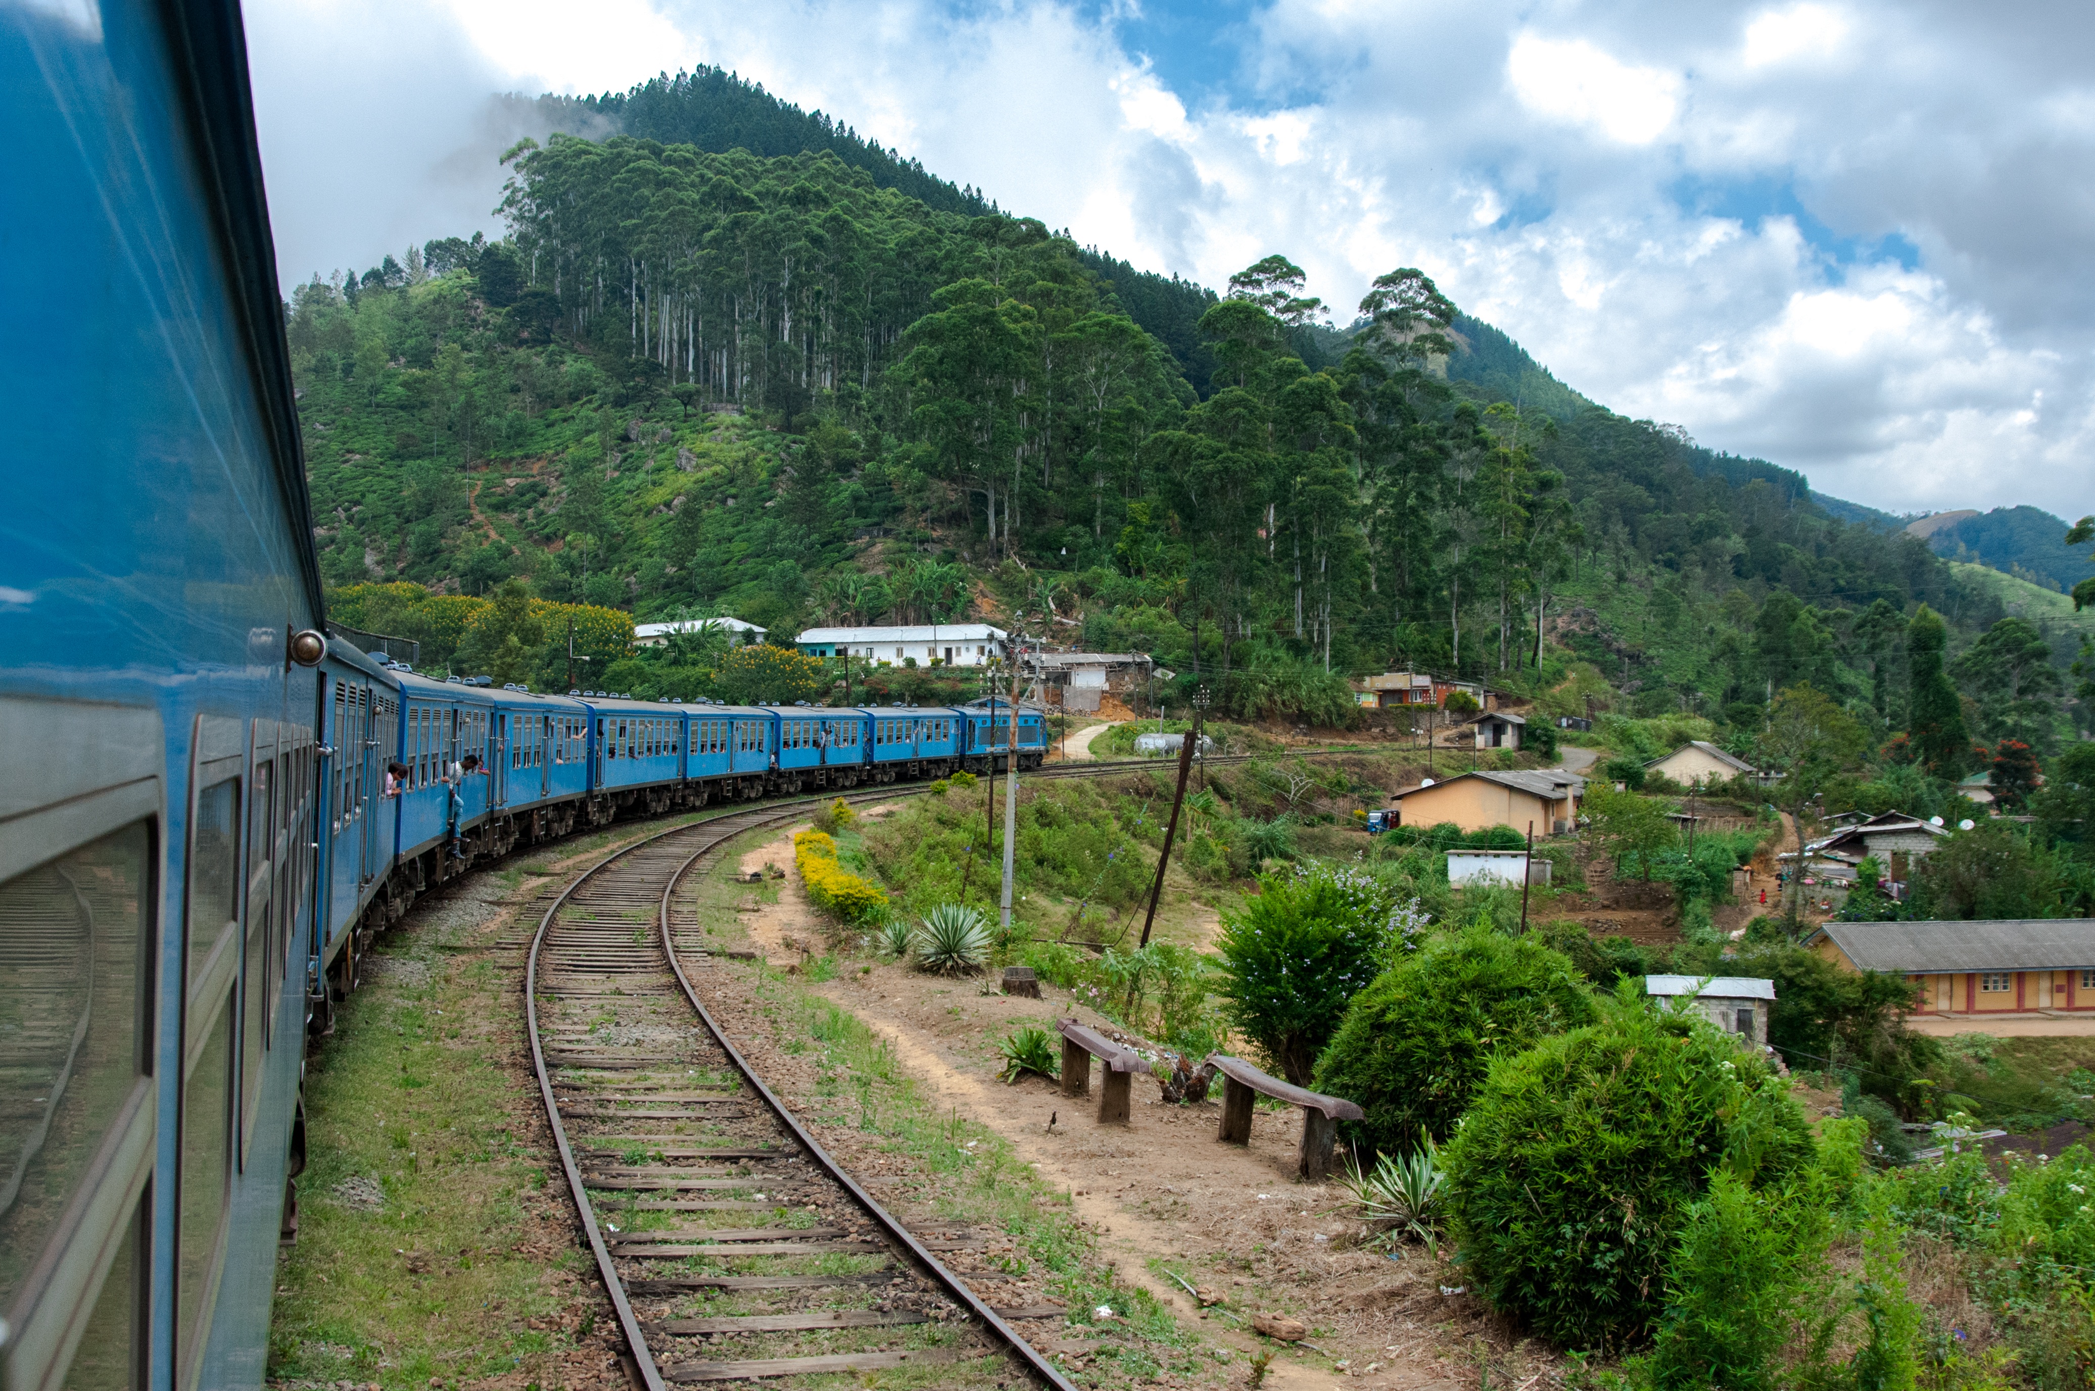
[[[553,1385],[587,1337],[587,1257],[532,1211],[549,1175],[497,1062],[520,1033],[488,1008],[509,982],[471,951],[469,922],[432,918],[379,941],[375,980],[306,1073],[312,1158],[277,1278],[272,1381]]]

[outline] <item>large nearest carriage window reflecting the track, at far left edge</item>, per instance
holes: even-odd
[[[136,821],[0,884],[0,1309],[149,1070],[155,863]]]

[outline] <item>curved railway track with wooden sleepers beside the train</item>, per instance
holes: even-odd
[[[978,1299],[936,1257],[972,1242],[886,1213],[693,989],[704,949],[677,886],[735,836],[807,811],[750,809],[626,846],[576,876],[532,936],[532,1066],[633,1370],[662,1391],[955,1364],[955,1385],[1073,1391],[1014,1328],[1060,1309]]]

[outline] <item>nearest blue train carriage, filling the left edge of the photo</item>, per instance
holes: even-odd
[[[321,857],[385,853],[312,834],[321,668],[388,683],[321,633],[237,6],[6,6],[0,107],[0,1385],[260,1387]]]

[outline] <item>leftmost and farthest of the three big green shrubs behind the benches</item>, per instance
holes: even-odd
[[[1297,869],[1259,880],[1259,897],[1221,920],[1221,993],[1230,1022],[1295,1085],[1347,1001],[1374,976],[1387,890],[1347,869]]]

